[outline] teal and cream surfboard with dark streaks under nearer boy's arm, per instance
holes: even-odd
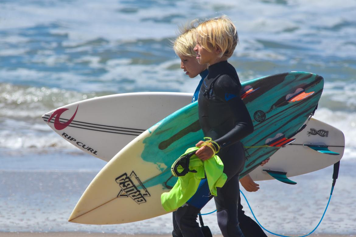
[[[323,83],[323,77],[307,72],[281,73],[242,83],[243,88],[258,89],[243,99],[255,131],[241,140],[247,147],[241,177],[280,149],[266,146],[268,138],[282,133],[289,139],[302,127],[318,104]],[[298,88],[313,93],[299,101],[287,101],[286,96]],[[197,107],[195,102],[174,112],[119,151],[89,184],[69,221],[119,224],[165,214],[160,197],[176,181],[170,172],[172,163],[204,137]],[[126,198],[117,197],[121,190]]]

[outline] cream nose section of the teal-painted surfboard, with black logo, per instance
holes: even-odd
[[[154,132],[156,128],[154,125],[150,131]],[[150,131],[146,130],[132,140],[100,170],[85,189],[68,221],[97,225],[120,224],[167,213],[161,205],[161,194],[165,190],[162,183],[147,189],[141,185],[142,181],[161,174],[157,164],[146,162],[141,157],[145,146],[143,140],[151,135]],[[142,187],[141,193],[137,187]],[[122,197],[120,193],[128,192],[127,188],[131,189],[132,195]]]

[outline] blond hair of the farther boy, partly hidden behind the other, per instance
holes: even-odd
[[[197,20],[179,27],[180,35],[173,42],[173,50],[178,56],[194,57],[197,54],[194,52],[197,35],[195,33],[195,24]]]

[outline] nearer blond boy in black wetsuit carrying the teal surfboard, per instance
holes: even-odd
[[[224,163],[227,181],[214,197],[218,210],[218,224],[223,236],[244,236],[237,219],[239,174],[244,168],[245,152],[240,140],[252,133],[253,125],[245,104],[240,98],[241,84],[235,68],[226,60],[237,42],[234,24],[225,16],[201,23],[197,28],[194,51],[200,64],[209,65],[209,74],[200,87],[199,122],[206,137],[211,137],[215,150]],[[197,145],[200,146],[203,141]],[[201,147],[196,155],[201,160],[214,155],[209,146]],[[194,195],[192,199],[201,199]],[[191,201],[191,199],[189,200]],[[197,223],[202,206],[190,202],[177,209],[176,220],[183,236],[203,236]],[[194,202],[193,202],[194,203]]]

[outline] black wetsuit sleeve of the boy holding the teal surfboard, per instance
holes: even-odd
[[[215,140],[221,148],[234,144],[253,132],[250,114],[240,97],[241,84],[237,82],[238,79],[223,75],[214,84],[216,97],[229,105],[231,115],[236,118],[235,126]]]

